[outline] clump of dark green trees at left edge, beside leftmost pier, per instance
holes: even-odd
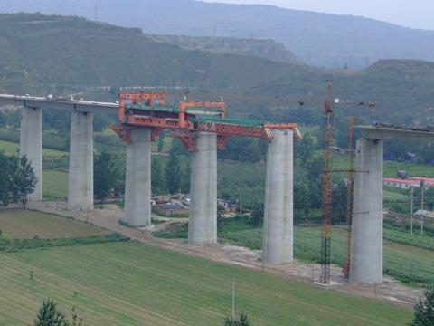
[[[17,156],[6,156],[0,152],[0,206],[25,205],[36,187],[31,162]]]

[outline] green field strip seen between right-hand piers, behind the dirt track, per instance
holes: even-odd
[[[262,246],[262,228],[248,225],[241,219],[226,219],[218,228],[220,241],[251,249]],[[162,237],[186,237],[184,229],[174,233],[156,233]],[[384,273],[401,281],[430,283],[434,281],[434,239],[426,235],[411,236],[400,229],[384,228]],[[294,255],[307,262],[320,262],[321,228],[319,226],[294,228]],[[343,264],[346,252],[345,231],[335,226],[332,231],[332,264]]]

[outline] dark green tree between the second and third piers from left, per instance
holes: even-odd
[[[94,159],[93,194],[99,199],[109,197],[111,189],[117,186],[118,168],[113,155],[107,151],[100,152]]]

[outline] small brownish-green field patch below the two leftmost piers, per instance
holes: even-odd
[[[98,226],[52,214],[26,210],[0,210],[0,230],[16,239],[109,235]],[[4,235],[2,235],[4,236]]]

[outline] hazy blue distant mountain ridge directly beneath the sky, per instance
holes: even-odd
[[[364,68],[380,59],[434,60],[434,32],[373,19],[194,0],[99,0],[102,21],[151,34],[273,39],[310,65]],[[0,12],[95,16],[88,0],[2,0]]]

